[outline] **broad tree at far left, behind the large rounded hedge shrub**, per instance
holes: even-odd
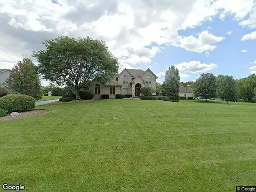
[[[36,100],[42,98],[38,68],[31,59],[23,58],[19,61],[12,68],[5,85],[11,92],[30,95]]]

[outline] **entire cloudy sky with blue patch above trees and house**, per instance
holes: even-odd
[[[256,73],[255,0],[0,0],[0,69],[62,35],[102,39],[119,71],[150,68],[160,83],[171,65],[185,82]]]

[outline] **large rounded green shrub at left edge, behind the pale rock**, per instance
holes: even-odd
[[[9,94],[0,98],[0,108],[12,112],[29,111],[35,108],[35,98],[29,95]]]

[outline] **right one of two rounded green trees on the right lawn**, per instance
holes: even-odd
[[[237,86],[232,76],[221,76],[218,82],[217,96],[222,100],[237,100]]]

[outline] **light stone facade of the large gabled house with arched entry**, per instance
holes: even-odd
[[[123,82],[124,78],[126,79],[126,82]],[[147,81],[149,78],[151,81]],[[135,97],[140,96],[138,95],[138,93],[140,93],[140,91],[138,91],[139,88],[135,88],[135,85],[140,87],[150,86],[156,90],[157,78],[158,77],[150,69],[147,69],[146,71],[140,69],[124,69],[107,84],[102,84],[98,82],[97,79],[93,79],[89,89],[95,93],[95,98],[100,98],[101,94],[109,94],[109,98],[115,98],[115,94],[125,93]],[[100,87],[100,94],[98,94],[98,91],[95,91],[96,85],[99,85]],[[115,94],[110,94],[110,87],[115,87]]]

